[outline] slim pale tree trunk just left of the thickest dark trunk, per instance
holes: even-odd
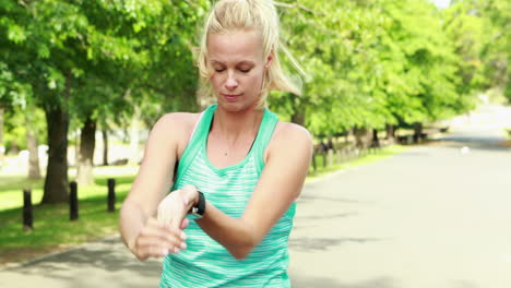
[[[34,129],[35,107],[28,106],[25,113],[26,146],[28,148],[28,179],[40,179],[37,131]]]

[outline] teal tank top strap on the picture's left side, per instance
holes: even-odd
[[[201,149],[204,137],[207,137],[207,134],[210,133],[211,121],[213,119],[213,115],[215,113],[216,107],[216,104],[211,105],[202,112],[202,116],[195,124],[195,128],[193,129],[193,132],[190,136],[190,141],[188,142],[188,145],[181,155],[181,159],[179,159],[175,179],[179,180],[181,178],[182,173],[195,158],[197,153]]]

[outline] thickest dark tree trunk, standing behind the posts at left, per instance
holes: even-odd
[[[68,129],[69,112],[63,107],[45,109],[48,124],[48,167],[43,204],[68,201]]]

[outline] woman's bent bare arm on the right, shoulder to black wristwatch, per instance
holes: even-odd
[[[197,224],[236,259],[245,259],[300,194],[311,154],[309,132],[283,123],[268,147],[264,169],[242,217],[226,215],[206,199],[204,217]]]

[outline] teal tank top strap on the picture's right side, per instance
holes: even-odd
[[[273,131],[275,130],[277,122],[278,117],[274,112],[264,109],[261,127],[259,128],[259,135],[257,136],[252,147],[259,173],[261,173],[264,168],[264,151],[272,139]]]

